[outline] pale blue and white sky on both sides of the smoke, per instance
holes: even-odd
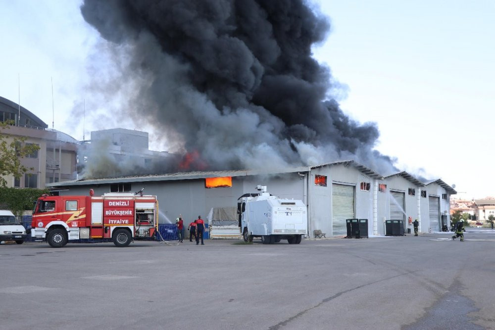
[[[330,94],[352,119],[377,123],[375,148],[401,170],[455,185],[457,197],[495,196],[495,2],[312,3],[331,22],[313,48],[336,80]],[[94,93],[112,63],[80,4],[0,0],[0,95],[78,140],[99,129],[147,131],[111,115],[125,88]],[[156,134],[150,148],[167,150]]]

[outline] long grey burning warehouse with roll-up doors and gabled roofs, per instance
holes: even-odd
[[[257,185],[267,186],[268,192],[273,195],[302,200],[308,207],[310,236],[313,236],[314,230],[321,230],[327,236],[346,236],[346,219],[367,219],[368,236],[384,235],[384,221],[400,217],[398,209],[393,206],[396,203],[386,195],[394,194],[405,213],[416,217],[417,197],[409,195],[408,189],[424,186],[405,172],[383,178],[366,166],[347,160],[278,171],[173,173],[77,180],[51,184],[50,187],[54,193],[61,195],[84,195],[88,194],[89,189],[94,189],[96,195],[102,195],[110,191],[132,192],[146,187],[146,194],[158,197],[160,222],[173,222],[182,214],[188,223],[198,215],[204,218],[212,208],[236,207],[238,198],[245,193],[256,192]],[[379,192],[380,185],[382,188],[388,185],[391,191],[385,189]],[[445,187],[435,184],[431,186],[432,193],[434,187],[446,191]],[[455,190],[450,188],[445,193],[455,193]],[[446,205],[448,207],[448,203]],[[402,211],[400,213],[405,223],[405,215]]]

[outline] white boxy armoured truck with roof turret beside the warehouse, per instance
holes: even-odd
[[[239,227],[246,242],[261,237],[263,244],[273,244],[287,239],[299,244],[307,235],[306,205],[297,199],[271,196],[266,186],[257,186],[259,193],[247,193],[239,197],[237,212]]]

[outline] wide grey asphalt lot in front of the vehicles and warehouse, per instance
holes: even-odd
[[[2,244],[0,329],[495,329],[495,231],[450,235]]]

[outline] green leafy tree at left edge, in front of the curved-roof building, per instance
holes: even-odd
[[[26,138],[13,137],[9,142],[7,136],[2,134],[10,129],[12,121],[0,121],[0,187],[5,187],[7,181],[3,176],[13,175],[20,178],[24,173],[33,170],[21,164],[21,158],[37,151],[40,147],[36,144],[25,144]]]

